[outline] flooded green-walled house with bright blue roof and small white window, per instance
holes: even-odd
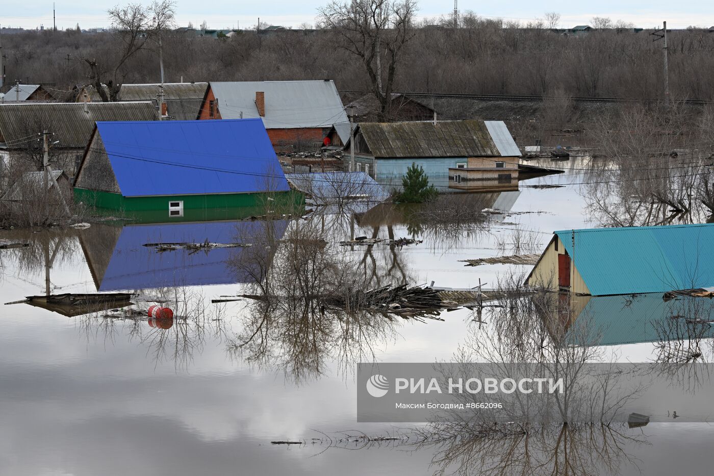
[[[260,119],[98,122],[74,187],[77,202],[176,218],[289,195]]]

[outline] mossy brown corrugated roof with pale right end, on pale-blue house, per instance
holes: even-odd
[[[502,121],[363,122],[359,124],[374,157],[504,157],[518,147],[508,142]],[[501,124],[496,124],[501,123]],[[489,127],[497,134],[499,149]],[[513,138],[511,141],[513,142]],[[515,147],[515,149],[513,149]]]

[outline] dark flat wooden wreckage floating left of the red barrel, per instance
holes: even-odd
[[[50,294],[49,296],[28,296],[25,299],[5,304],[26,303],[31,306],[42,307],[52,312],[57,312],[66,317],[81,316],[91,312],[106,311],[130,306],[133,294],[113,292],[106,294]]]

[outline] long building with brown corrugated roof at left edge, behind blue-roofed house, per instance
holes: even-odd
[[[156,109],[149,101],[0,104],[0,172],[15,159],[41,153],[41,134],[46,130],[52,134],[50,161],[56,169],[73,175],[95,122],[116,120],[156,120]]]

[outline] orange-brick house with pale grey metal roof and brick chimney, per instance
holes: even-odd
[[[276,149],[317,148],[335,125],[343,142],[349,121],[335,83],[211,81],[199,119],[260,118]]]

